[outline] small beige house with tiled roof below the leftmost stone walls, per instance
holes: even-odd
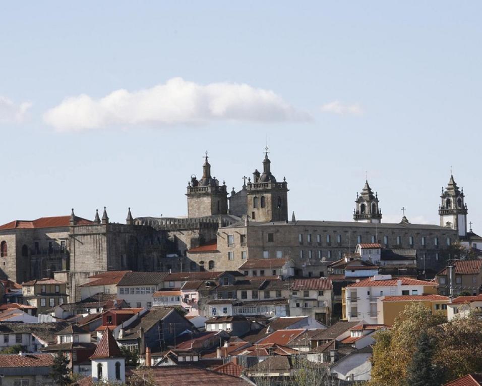
[[[55,279],[35,279],[22,284],[23,298],[38,314],[67,303],[67,283]]]

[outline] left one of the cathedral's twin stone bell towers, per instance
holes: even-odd
[[[223,181],[219,186],[218,180],[211,177],[211,165],[206,152],[203,165],[203,178],[191,177],[188,184],[188,217],[204,217],[215,214],[227,214],[227,191]]]

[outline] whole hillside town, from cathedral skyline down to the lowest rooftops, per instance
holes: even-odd
[[[0,226],[1,384],[482,384],[482,238],[453,176],[440,224],[391,224],[368,181],[353,222],[288,218],[268,149],[261,170],[229,193],[206,154],[187,216]]]

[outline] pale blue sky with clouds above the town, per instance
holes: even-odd
[[[7,2],[0,223],[187,214],[186,186],[262,168],[297,219],[439,224],[453,171],[482,232],[482,3]]]

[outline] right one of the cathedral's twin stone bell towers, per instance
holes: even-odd
[[[288,187],[286,179],[276,182],[271,174],[271,161],[268,148],[263,159],[263,173],[255,170],[253,181],[247,185],[248,216],[252,221],[287,221],[288,220]]]

